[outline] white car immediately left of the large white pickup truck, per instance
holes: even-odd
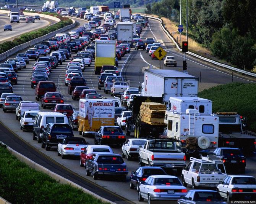
[[[127,160],[138,158],[139,148],[144,147],[146,141],[146,139],[128,139],[122,146],[122,157],[127,157]]]

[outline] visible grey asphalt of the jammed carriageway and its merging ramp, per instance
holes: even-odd
[[[76,19],[79,26],[83,26],[85,21],[83,19]],[[174,48],[170,40],[165,36],[164,32],[160,29],[160,23],[154,20],[150,20],[150,27],[143,29],[141,37],[145,39],[146,37],[154,37],[157,41],[164,43],[164,49],[168,51],[168,55],[175,56],[178,61],[177,70],[181,70],[182,65],[182,54],[178,53]],[[21,51],[20,53],[22,53]],[[75,54],[73,54],[75,55]],[[11,56],[12,57],[12,56]],[[11,58],[10,57],[10,58]],[[222,70],[219,68],[215,68],[212,65],[204,64],[192,57],[187,58],[188,61],[188,73],[191,75],[199,77],[201,71],[201,83],[200,89],[214,86],[216,84],[224,84],[228,82],[232,82],[231,75],[229,75],[228,71]],[[67,65],[67,61],[63,63],[63,65],[58,65],[57,69],[53,69],[50,73],[50,80],[54,81],[57,85],[57,91],[60,92],[64,96],[65,103],[71,104],[74,108],[78,108],[79,101],[72,100],[71,96],[68,94],[67,87],[64,84],[64,74],[65,68]],[[22,69],[18,72],[18,85],[15,85],[14,92],[17,95],[23,97],[23,100],[35,100],[34,92],[35,89],[31,89],[30,86],[30,77],[32,73],[32,65],[34,61],[30,61],[30,64],[27,65],[26,69]],[[131,86],[138,87],[138,82],[143,81],[144,73],[141,72],[142,67],[147,67],[149,64],[154,66],[159,66],[159,61],[152,61],[145,51],[136,51],[132,49],[130,53],[127,53],[122,60],[119,61],[119,72],[121,75],[125,77],[127,80],[131,81]],[[173,67],[168,67],[164,69],[174,69]],[[97,90],[97,75],[94,75],[94,63],[92,63],[91,67],[86,67],[84,73],[84,77],[87,80],[87,86],[92,89]],[[253,78],[247,78],[243,76],[236,76],[234,81],[240,81],[244,83],[249,83],[250,81],[256,81]],[[98,93],[102,94],[102,96],[110,97],[109,94],[105,94],[103,90],[97,90]],[[37,102],[37,101],[36,101]],[[51,109],[42,109],[41,111],[52,111]],[[128,177],[126,182],[122,182],[114,179],[107,180],[93,180],[92,177],[87,177],[85,173],[85,169],[79,166],[78,159],[62,159],[57,156],[56,149],[52,148],[50,151],[45,151],[45,149],[41,148],[41,144],[37,143],[37,141],[32,140],[31,132],[23,132],[20,130],[19,122],[15,120],[15,113],[3,113],[0,112],[0,121],[11,131],[13,131],[15,135],[12,135],[8,130],[6,130],[3,126],[0,125],[0,128],[3,132],[8,132],[6,134],[0,134],[0,140],[10,144],[11,148],[17,148],[17,151],[21,151],[26,156],[34,159],[37,163],[53,169],[53,171],[61,174],[65,177],[69,176],[71,179],[75,178],[76,183],[84,186],[85,188],[89,188],[89,190],[94,193],[100,194],[104,198],[110,199],[111,201],[115,201],[117,203],[128,203],[135,202],[138,203],[137,192],[136,190],[131,190],[129,187]],[[76,137],[81,137],[78,132],[74,131]],[[130,136],[133,137],[133,136]],[[130,138],[127,137],[127,138]],[[26,145],[23,142],[20,142],[19,138],[23,140],[23,142],[27,143]],[[94,144],[93,138],[85,138],[89,144]],[[30,148],[32,147],[32,149]],[[24,151],[26,150],[26,151]],[[121,154],[121,149],[113,147],[113,151],[115,153]],[[36,156],[35,156],[36,154]],[[44,156],[45,155],[45,156]],[[47,159],[49,163],[47,163]],[[247,168],[246,175],[254,175],[255,176],[255,167],[254,162],[256,158],[250,157],[247,159]],[[125,162],[128,165],[129,172],[134,171],[138,167],[138,161],[127,161]],[[67,173],[68,172],[68,173]],[[170,172],[171,174],[175,174],[175,172]],[[95,185],[96,183],[96,185]]]

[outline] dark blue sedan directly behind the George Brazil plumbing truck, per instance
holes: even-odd
[[[101,126],[94,136],[94,144],[99,145],[123,145],[125,134],[118,126]]]

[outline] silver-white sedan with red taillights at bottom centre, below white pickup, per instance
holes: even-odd
[[[170,202],[170,200],[183,198],[186,193],[186,187],[176,176],[152,175],[139,185],[138,200],[147,199],[148,203],[156,200]]]

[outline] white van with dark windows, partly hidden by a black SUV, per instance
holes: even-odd
[[[68,124],[68,117],[62,113],[57,112],[39,112],[36,115],[34,122],[33,140],[38,139],[38,143],[42,142],[42,137],[40,137],[40,133],[44,130],[48,123]]]

